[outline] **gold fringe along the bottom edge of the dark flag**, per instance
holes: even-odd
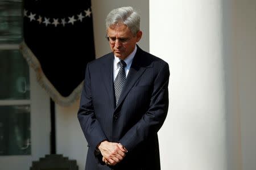
[[[61,106],[68,106],[80,98],[83,82],[81,82],[79,86],[77,86],[68,97],[61,96],[56,88],[52,86],[52,83],[49,82],[46,75],[44,75],[38,59],[35,57],[35,54],[30,50],[30,48],[28,48],[27,44],[24,41],[20,43],[19,49],[20,52],[22,52],[23,57],[27,60],[28,65],[30,65],[35,70],[36,79],[40,86],[42,86],[44,90],[47,91],[47,93],[52,98],[52,100],[55,101],[55,103]]]

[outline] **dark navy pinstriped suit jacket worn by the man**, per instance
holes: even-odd
[[[115,107],[114,54],[98,58],[86,67],[79,122],[88,142],[86,170],[160,169],[157,132],[168,111],[169,67],[162,59],[137,52]],[[122,162],[108,166],[96,146],[107,139],[128,150]]]

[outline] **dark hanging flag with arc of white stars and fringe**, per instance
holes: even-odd
[[[60,105],[79,99],[86,64],[95,58],[90,0],[24,0],[23,56]]]

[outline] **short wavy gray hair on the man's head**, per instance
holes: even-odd
[[[120,7],[109,12],[106,18],[106,29],[112,25],[122,23],[127,25],[130,31],[135,36],[139,31],[141,17],[138,12],[134,11],[133,7]]]

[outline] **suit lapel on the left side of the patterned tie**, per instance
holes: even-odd
[[[114,83],[113,83],[113,53],[109,54],[107,61],[104,63],[104,66],[101,67],[101,73],[103,75],[104,84],[106,87],[106,91],[109,95],[110,103],[112,104],[113,108],[115,107],[114,101]]]

